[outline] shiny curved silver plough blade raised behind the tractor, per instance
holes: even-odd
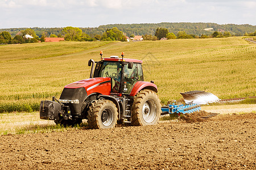
[[[209,104],[220,101],[217,96],[205,91],[188,91],[180,94],[186,104]]]

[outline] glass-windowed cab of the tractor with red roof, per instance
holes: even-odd
[[[93,78],[111,78],[111,92],[113,94],[129,95],[134,87],[134,84],[138,81],[143,81],[141,64],[142,61],[138,59],[110,56],[110,58],[101,58],[101,61],[96,63],[95,70],[93,74],[91,72],[91,75],[93,75]]]

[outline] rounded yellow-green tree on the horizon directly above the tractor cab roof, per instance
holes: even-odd
[[[122,31],[119,31],[117,27],[107,29],[102,35],[103,41],[127,41]]]

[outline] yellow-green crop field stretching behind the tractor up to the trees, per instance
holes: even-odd
[[[139,42],[42,42],[0,46],[0,112],[39,109],[66,84],[89,78],[90,58],[142,59],[162,104],[179,92],[205,90],[220,99],[256,96],[256,44],[241,37]]]

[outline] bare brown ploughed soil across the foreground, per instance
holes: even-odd
[[[0,169],[256,169],[255,113],[187,120],[3,135]]]

